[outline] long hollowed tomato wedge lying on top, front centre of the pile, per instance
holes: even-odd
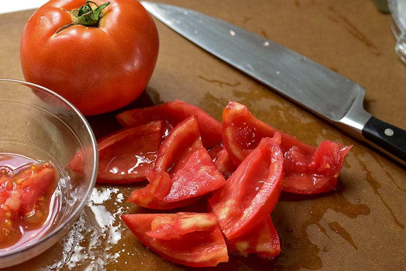
[[[248,234],[265,221],[277,204],[283,179],[283,156],[276,142],[279,140],[261,139],[209,200],[227,239]]]

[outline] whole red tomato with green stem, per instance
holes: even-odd
[[[81,14],[91,15],[81,20],[94,25],[81,24]],[[152,17],[135,0],[51,0],[29,18],[20,46],[26,81],[93,115],[121,108],[144,91],[159,39]]]

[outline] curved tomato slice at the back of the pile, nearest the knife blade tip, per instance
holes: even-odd
[[[191,115],[197,115],[201,141],[206,148],[222,141],[221,123],[203,109],[181,100],[164,104],[135,108],[119,113],[116,118],[122,126],[141,125],[151,121],[163,120],[169,131]]]

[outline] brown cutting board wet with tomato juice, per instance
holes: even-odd
[[[162,0],[227,20],[312,58],[366,89],[365,108],[406,129],[406,65],[394,52],[390,16],[373,1]],[[23,79],[19,41],[32,11],[0,15],[0,77]],[[220,120],[229,100],[257,118],[317,145],[353,144],[335,192],[283,194],[272,213],[281,254],[272,260],[231,256],[219,270],[384,270],[406,266],[406,171],[311,113],[249,79],[156,21],[160,53],[145,93],[131,106],[182,99]],[[88,118],[97,137],[119,126],[114,113]],[[406,140],[406,139],[405,139]],[[72,230],[18,269],[184,270],[145,248],[120,220],[137,186],[97,186]],[[190,268],[191,269],[191,268]]]

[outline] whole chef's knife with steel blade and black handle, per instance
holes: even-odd
[[[406,165],[406,131],[365,111],[365,90],[355,82],[220,19],[172,5],[141,4],[194,44]]]

